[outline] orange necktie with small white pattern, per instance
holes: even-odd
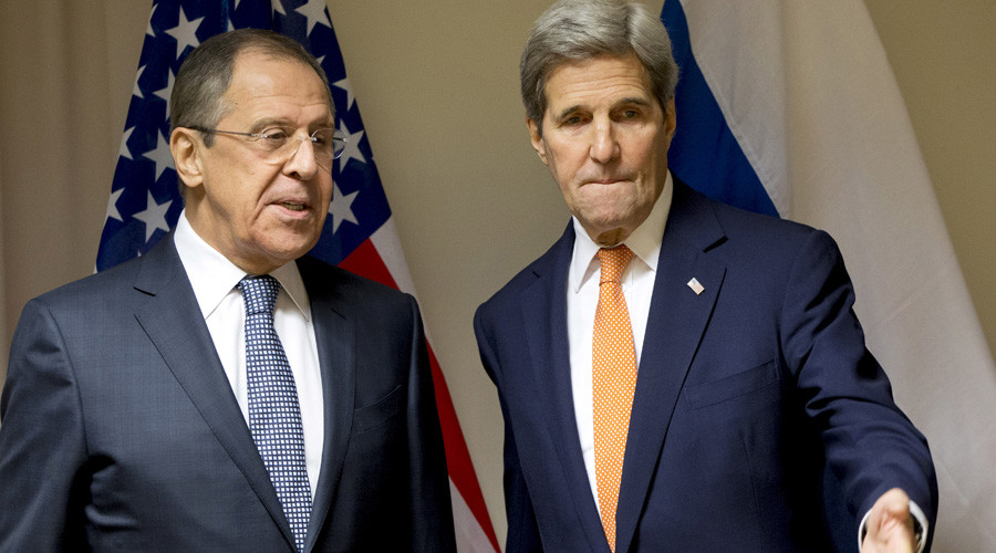
[[[625,246],[599,250],[599,305],[592,334],[592,399],[599,511],[615,551],[615,509],[622,481],[630,411],[636,390],[633,328],[620,276],[633,252]]]

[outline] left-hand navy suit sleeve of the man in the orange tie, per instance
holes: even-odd
[[[526,478],[519,463],[515,431],[501,393],[500,367],[494,354],[490,334],[485,331],[483,311],[484,307],[479,307],[474,315],[474,333],[477,336],[477,347],[485,371],[498,387],[498,401],[501,405],[501,418],[505,420],[505,514],[508,519],[505,550],[509,553],[542,551],[532,500],[529,498]]]

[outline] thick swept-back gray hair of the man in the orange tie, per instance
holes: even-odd
[[[536,20],[519,62],[526,115],[542,133],[547,79],[561,63],[631,53],[646,69],[664,109],[674,97],[678,70],[661,20],[629,0],[560,0]]]

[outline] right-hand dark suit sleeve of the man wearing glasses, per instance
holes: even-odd
[[[436,409],[422,314],[411,299],[414,331],[408,374],[408,451],[412,486],[411,551],[456,551],[449,474]]]

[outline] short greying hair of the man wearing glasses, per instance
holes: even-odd
[[[273,31],[237,29],[209,38],[184,60],[169,96],[170,133],[177,127],[215,128],[218,125],[234,107],[225,102],[225,93],[231,84],[236,58],[247,51],[310,66],[322,80],[329,94],[329,111],[335,114],[329,77],[304,46]],[[210,147],[214,137],[208,133],[204,144]]]

